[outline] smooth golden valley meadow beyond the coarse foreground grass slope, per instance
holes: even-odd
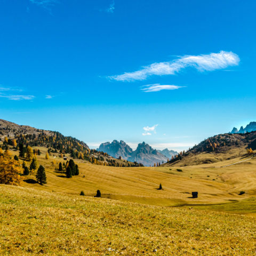
[[[256,195],[254,158],[223,168],[214,167],[214,164],[179,167],[181,171],[175,166],[110,167],[79,161],[79,175],[68,179],[52,164],[55,161],[57,166],[62,159],[53,157],[46,160],[44,154],[37,156],[38,162],[46,167],[45,186],[33,183],[35,173],[26,176],[22,186],[73,195],[79,195],[83,190],[86,196],[93,196],[100,189],[103,197],[162,206],[228,203]],[[160,183],[163,190],[157,190]],[[244,195],[238,195],[241,190],[245,191]],[[198,191],[198,198],[191,198],[192,191]]]

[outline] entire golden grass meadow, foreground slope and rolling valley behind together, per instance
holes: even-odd
[[[46,185],[35,183],[33,173],[21,187],[0,186],[1,255],[256,253],[254,158],[227,167],[221,166],[239,158],[186,167],[75,160],[80,173],[68,179],[55,170],[63,160],[57,154],[46,160],[41,151]],[[102,198],[93,197],[97,189]]]

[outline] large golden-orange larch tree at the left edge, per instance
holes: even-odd
[[[22,181],[20,163],[11,158],[8,150],[0,156],[0,183],[19,186]]]

